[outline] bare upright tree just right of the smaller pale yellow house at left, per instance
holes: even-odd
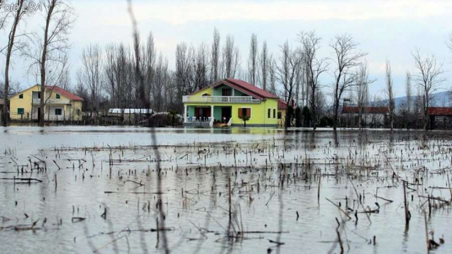
[[[98,97],[103,83],[103,57],[102,50],[98,44],[90,44],[82,50],[82,67],[77,73],[80,84],[89,91],[91,109],[98,108]]]

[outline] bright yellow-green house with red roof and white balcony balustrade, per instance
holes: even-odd
[[[185,95],[184,123],[189,126],[216,124],[276,127],[281,114],[279,97],[240,79],[227,78]]]

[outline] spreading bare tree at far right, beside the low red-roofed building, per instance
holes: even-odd
[[[444,81],[442,78],[442,64],[436,61],[434,55],[426,57],[421,56],[419,50],[416,50],[412,55],[414,58],[414,65],[417,69],[417,73],[413,75],[413,78],[421,88],[424,99],[422,111],[424,114],[425,131],[427,130],[428,107],[432,102],[432,95],[438,90],[439,84]]]

